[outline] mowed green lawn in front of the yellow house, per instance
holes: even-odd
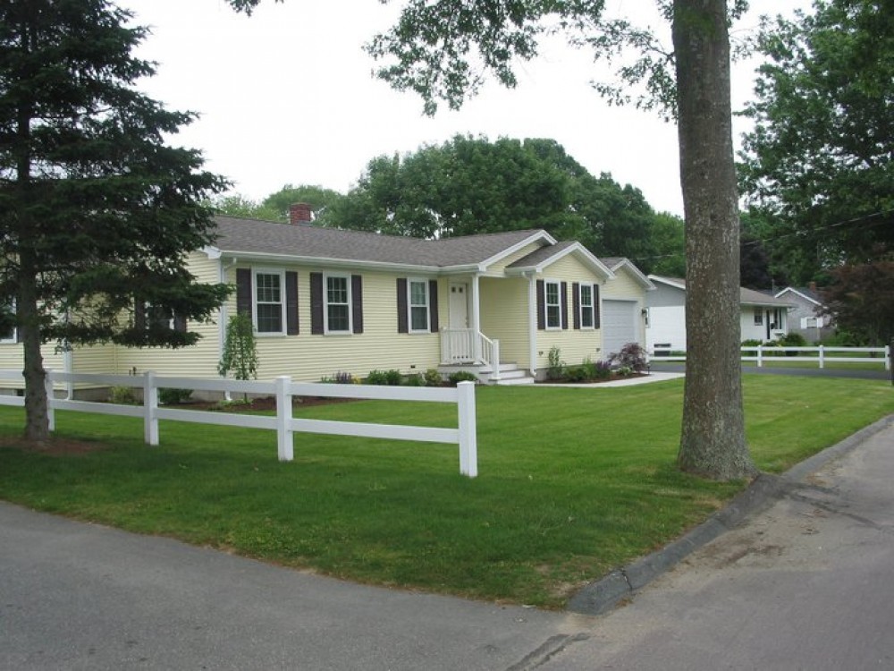
[[[894,412],[881,381],[745,376],[748,440],[784,471]],[[544,607],[659,548],[744,483],[674,469],[682,382],[613,389],[485,387],[479,477],[456,446],[57,413],[60,435],[105,449],[52,456],[0,448],[0,498],[77,519],[223,548],[359,582]],[[299,408],[318,419],[455,426],[455,408],[357,402]],[[21,431],[0,407],[0,437]],[[9,442],[9,441],[7,441]]]

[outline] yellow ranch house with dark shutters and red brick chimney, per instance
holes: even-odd
[[[579,242],[542,230],[422,240],[318,227],[299,208],[292,219],[216,217],[215,244],[192,252],[188,265],[198,281],[235,291],[214,323],[185,325],[202,335],[198,344],[65,353],[47,345],[46,367],[215,377],[225,325],[240,310],[254,323],[264,379],[438,368],[530,381],[543,375],[553,346],[568,363],[607,357],[604,295],[624,302],[628,316],[645,306],[649,282],[626,259],[616,259],[616,276]],[[636,321],[628,335],[637,338]],[[0,344],[0,369],[21,369],[12,340]]]

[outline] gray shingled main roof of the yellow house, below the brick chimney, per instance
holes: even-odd
[[[465,235],[442,240],[345,231],[309,224],[215,217],[215,247],[226,254],[389,263],[445,268],[479,264],[540,230]]]

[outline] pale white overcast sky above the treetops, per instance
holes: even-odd
[[[362,50],[392,24],[398,2],[263,0],[250,17],[223,0],[119,4],[152,30],[138,55],[156,61],[158,72],[140,88],[170,109],[201,115],[172,143],[201,149],[208,169],[253,200],[287,183],[347,191],[373,157],[470,133],[551,138],[592,174],[611,173],[643,191],[655,209],[682,214],[676,128],[654,113],[608,106],[588,85],[600,78],[592,57],[560,41],[519,63],[517,89],[491,82],[460,112],[443,106],[429,118],[415,94],[372,77],[375,63]],[[808,2],[751,4],[736,30],[754,28],[760,13]],[[664,30],[652,5],[607,2],[614,13],[639,13]],[[746,101],[754,67],[734,67],[734,106]]]

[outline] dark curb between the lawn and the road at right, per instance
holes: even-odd
[[[847,454],[869,437],[894,424],[894,415],[889,415],[857,431],[836,445],[827,447],[818,454],[798,463],[782,475],[761,473],[755,480],[732,499],[721,511],[713,514],[692,531],[651,555],[644,556],[633,564],[616,569],[601,580],[591,582],[571,599],[567,609],[572,613],[602,615],[611,610],[622,599],[627,599],[652,582],[659,575],[677,565],[697,548],[716,539],[722,533],[734,529],[747,518],[769,508],[789,490],[797,488],[811,473],[823,465]]]

